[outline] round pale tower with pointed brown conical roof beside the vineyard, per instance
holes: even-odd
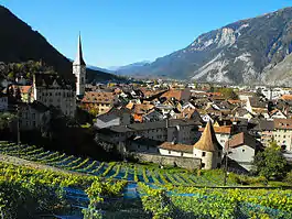
[[[217,141],[210,121],[207,123],[201,139],[194,144],[194,157],[202,160],[202,168],[219,168],[223,147]]]

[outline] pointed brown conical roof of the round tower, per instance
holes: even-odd
[[[210,121],[208,121],[201,139],[194,144],[194,147],[206,152],[215,152],[223,149],[217,141]]]

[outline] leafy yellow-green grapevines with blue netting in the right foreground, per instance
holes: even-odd
[[[291,190],[151,188],[140,183],[143,208],[153,218],[289,219]],[[184,194],[184,195],[182,195]]]

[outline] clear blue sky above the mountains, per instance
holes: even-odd
[[[154,61],[199,34],[292,6],[291,0],[0,0],[75,57],[82,32],[87,64],[99,67]]]

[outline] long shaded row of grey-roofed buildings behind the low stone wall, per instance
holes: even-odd
[[[194,144],[199,138],[199,125],[201,122],[198,121],[181,119],[115,125],[97,130],[96,140],[116,145],[120,153],[127,152],[129,139],[132,136],[143,136],[161,142]]]

